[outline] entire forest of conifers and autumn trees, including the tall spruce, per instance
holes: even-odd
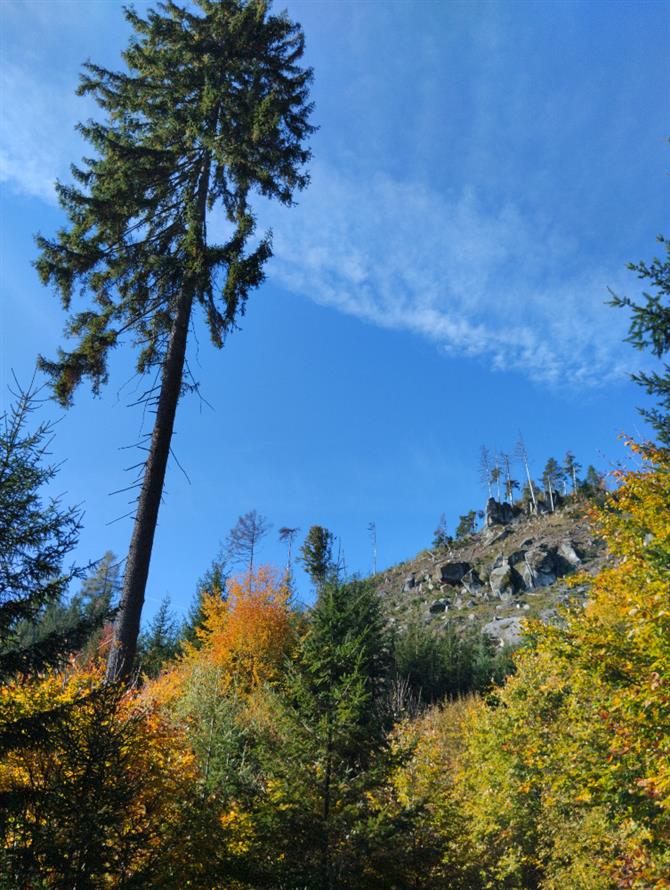
[[[15,381],[0,423],[1,890],[670,888],[670,242],[631,264],[642,297],[611,300],[657,368],[635,376],[651,432],[629,462],[605,479],[568,452],[536,480],[523,439],[480,454],[494,504],[568,504],[604,541],[604,567],[568,581],[583,605],[516,647],[392,625],[334,531],[282,527],[286,563],[264,564],[252,510],[188,615],[143,622],[187,340],[237,328],[272,263],[253,202],[308,187],[315,127],[302,29],[265,0],[125,14],[126,70],[82,75],[102,118],[58,185],[67,224],[37,241],[74,345]],[[104,389],[124,335],[152,423],[132,538],[77,565],[85,518],[53,494],[43,403]],[[482,517],[453,536],[441,518],[430,551]]]

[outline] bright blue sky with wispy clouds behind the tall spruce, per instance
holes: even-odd
[[[138,4],[139,9],[145,4]],[[277,4],[276,8],[283,8]],[[539,474],[571,448],[603,470],[643,435],[607,288],[668,226],[670,5],[661,2],[293,2],[314,66],[312,183],[297,207],[259,205],[268,279],[222,352],[200,326],[169,470],[147,614],[186,607],[237,517],[327,525],[347,566],[427,546],[440,513],[483,503],[478,452],[521,430]],[[0,388],[55,353],[64,317],[30,262],[62,222],[53,180],[85,150],[86,58],[117,67],[115,0],[4,0]],[[213,220],[216,229],[216,220]],[[124,467],[143,418],[132,356],[100,399],[62,417],[57,489],[85,509],[77,557],[123,556]],[[130,382],[128,382],[130,381]],[[146,429],[146,426],[144,427]],[[300,594],[309,598],[300,579]]]

